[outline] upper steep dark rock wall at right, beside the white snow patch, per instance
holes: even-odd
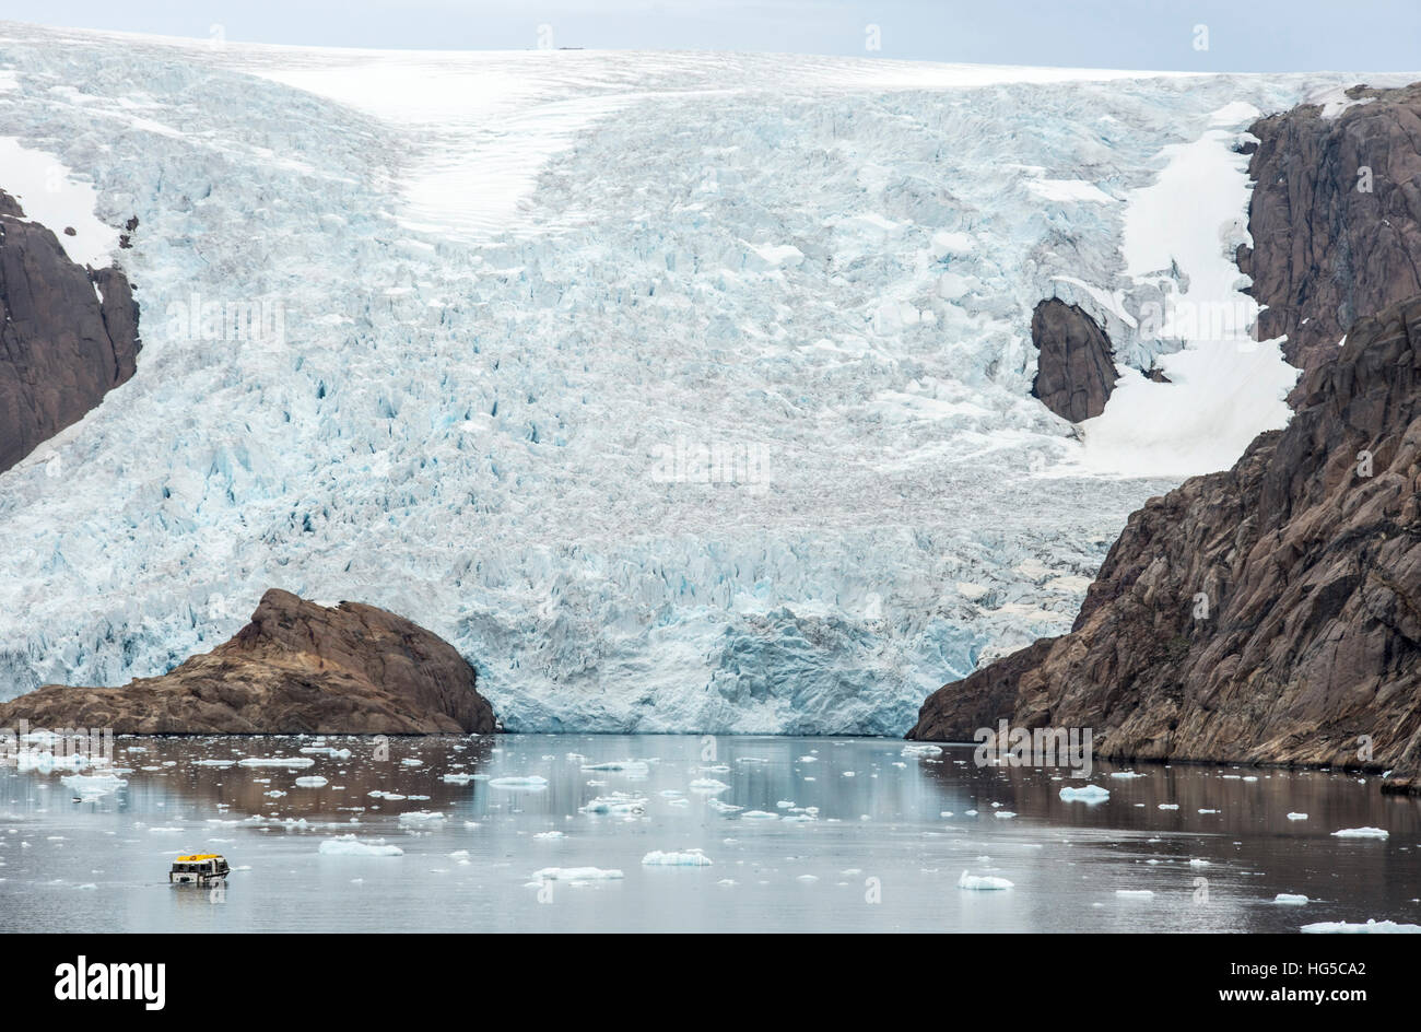
[[[1304,371],[1357,318],[1421,294],[1421,84],[1347,95],[1364,102],[1336,118],[1302,105],[1252,127],[1253,250],[1238,263],[1268,306],[1259,337],[1286,334],[1283,353]]]

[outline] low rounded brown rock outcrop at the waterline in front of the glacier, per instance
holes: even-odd
[[[476,674],[442,638],[358,603],[271,590],[232,641],[124,688],[45,685],[0,704],[0,726],[131,735],[490,733]]]

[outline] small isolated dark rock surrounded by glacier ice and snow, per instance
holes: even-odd
[[[1042,301],[1032,313],[1032,343],[1040,353],[1032,397],[1061,419],[1100,415],[1115,389],[1110,338],[1074,304]]]

